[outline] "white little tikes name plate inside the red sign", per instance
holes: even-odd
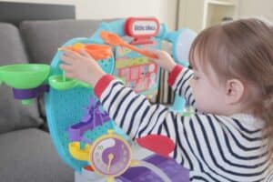
[[[152,35],[157,31],[157,23],[154,21],[136,21],[133,24],[134,35]]]

